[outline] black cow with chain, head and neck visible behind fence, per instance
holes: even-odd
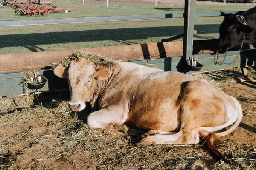
[[[221,12],[224,21],[219,28],[218,52],[225,53],[239,43],[248,43],[256,48],[256,7],[236,14]],[[245,36],[245,39],[244,39]]]

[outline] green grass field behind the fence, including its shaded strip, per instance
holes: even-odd
[[[28,17],[16,14],[15,10],[4,6],[0,8],[0,20],[31,20],[67,17],[120,16],[135,14],[183,13],[181,5],[158,5],[140,3],[109,3],[96,1],[57,0],[54,5],[79,8],[69,13],[57,12],[49,16]],[[195,12],[244,11],[253,6],[232,5],[214,6],[198,5]],[[195,18],[195,29],[198,34],[195,40],[218,38],[218,28],[223,17]],[[54,51],[76,48],[104,47],[112,45],[140,44],[161,42],[183,33],[183,18],[119,21],[104,23],[58,24],[43,26],[0,27],[0,54],[17,54],[37,51]]]

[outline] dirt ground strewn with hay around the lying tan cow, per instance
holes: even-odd
[[[87,126],[88,111],[69,111],[69,92],[0,99],[0,169],[9,170],[253,170],[256,169],[256,71],[241,69],[195,74],[243,107],[243,120],[221,139],[220,150],[233,165],[218,161],[198,145],[137,147],[145,133],[128,127],[114,133]]]

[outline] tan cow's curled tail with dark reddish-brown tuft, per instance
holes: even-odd
[[[239,104],[239,102],[236,100],[236,104],[237,104],[237,108],[238,108],[238,116],[236,121],[233,123],[233,125],[226,131],[224,132],[220,132],[220,133],[214,133],[214,132],[209,132],[205,129],[200,129],[199,130],[199,134],[200,136],[202,136],[205,141],[203,143],[203,145],[205,144],[208,148],[209,151],[212,153],[213,156],[215,156],[217,159],[223,159],[225,162],[227,162],[228,164],[231,164],[231,162],[229,160],[227,160],[223,154],[218,150],[216,143],[218,143],[218,138],[221,136],[226,136],[228,134],[230,134],[233,130],[236,129],[236,127],[238,127],[238,125],[240,124],[242,117],[243,117],[243,111],[241,108],[241,105]]]

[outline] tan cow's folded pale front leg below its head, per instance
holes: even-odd
[[[127,132],[127,127],[122,125],[128,113],[120,108],[104,108],[90,113],[87,118],[89,126],[115,132]]]

